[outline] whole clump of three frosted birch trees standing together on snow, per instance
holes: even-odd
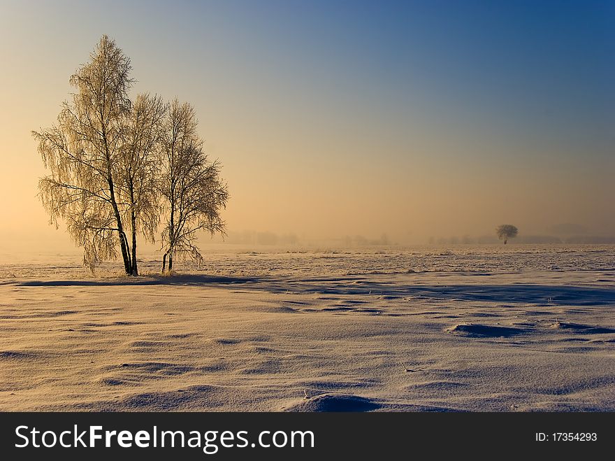
[[[164,215],[163,271],[175,255],[200,261],[198,231],[224,234],[229,196],[219,162],[203,153],[194,109],[149,94],[132,102],[130,72],[130,59],[103,36],[71,77],[75,92],[57,125],[33,134],[50,171],[39,182],[50,220],[66,222],[90,269],[116,257],[119,244],[124,271],[137,276],[138,235],[153,243]]]

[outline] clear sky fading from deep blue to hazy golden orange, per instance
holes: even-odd
[[[614,1],[0,1],[0,248],[60,248],[30,131],[102,34],[194,104],[230,232],[615,234]]]

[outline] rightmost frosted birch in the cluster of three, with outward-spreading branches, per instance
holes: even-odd
[[[225,230],[220,212],[226,207],[229,192],[219,176],[219,162],[211,162],[203,152],[197,125],[194,108],[175,99],[166,116],[161,142],[160,192],[167,216],[161,235],[163,272],[167,257],[169,271],[175,256],[199,263],[203,260],[196,246],[198,231],[203,229],[213,235],[224,234]]]

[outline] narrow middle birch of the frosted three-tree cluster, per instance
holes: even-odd
[[[126,203],[124,220],[132,236],[131,274],[138,275],[137,234],[154,243],[159,222],[157,172],[158,146],[166,106],[158,96],[139,94],[126,122],[122,154],[118,157],[117,178],[120,197]]]

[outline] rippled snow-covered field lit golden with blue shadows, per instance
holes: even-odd
[[[615,411],[615,246],[1,255],[0,410]]]

